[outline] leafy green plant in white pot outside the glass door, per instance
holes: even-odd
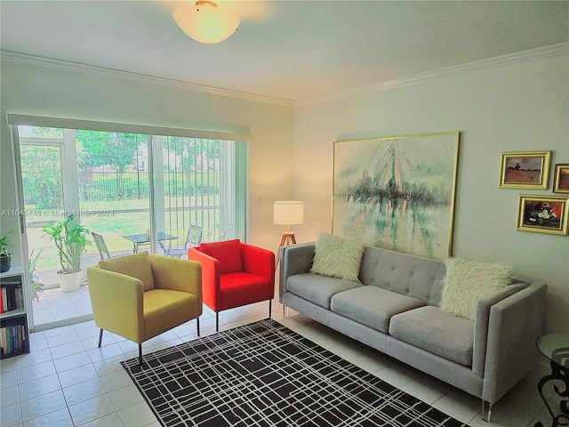
[[[68,215],[63,221],[54,222],[44,227],[44,233],[52,238],[58,250],[61,270],[60,287],[63,292],[79,289],[81,284],[81,254],[90,245],[87,240],[89,230],[75,222],[75,215]]]

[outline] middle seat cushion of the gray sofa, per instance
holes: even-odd
[[[393,315],[423,305],[424,302],[381,287],[361,286],[333,295],[330,307],[334,313],[387,334]]]

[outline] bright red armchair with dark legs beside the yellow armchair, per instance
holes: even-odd
[[[275,254],[238,239],[202,243],[188,248],[188,259],[202,264],[204,304],[215,311],[215,330],[220,311],[268,300],[268,317],[275,295]]]

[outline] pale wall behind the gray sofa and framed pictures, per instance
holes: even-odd
[[[470,69],[295,109],[297,241],[330,231],[333,141],[461,131],[454,256],[506,262],[549,286],[548,328],[569,327],[569,237],[517,231],[521,193],[499,189],[502,151],[552,150],[569,163],[569,54]],[[559,195],[561,196],[561,195]]]

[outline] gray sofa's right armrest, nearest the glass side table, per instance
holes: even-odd
[[[488,323],[482,399],[494,403],[535,365],[543,334],[547,286],[533,283],[493,304]]]

